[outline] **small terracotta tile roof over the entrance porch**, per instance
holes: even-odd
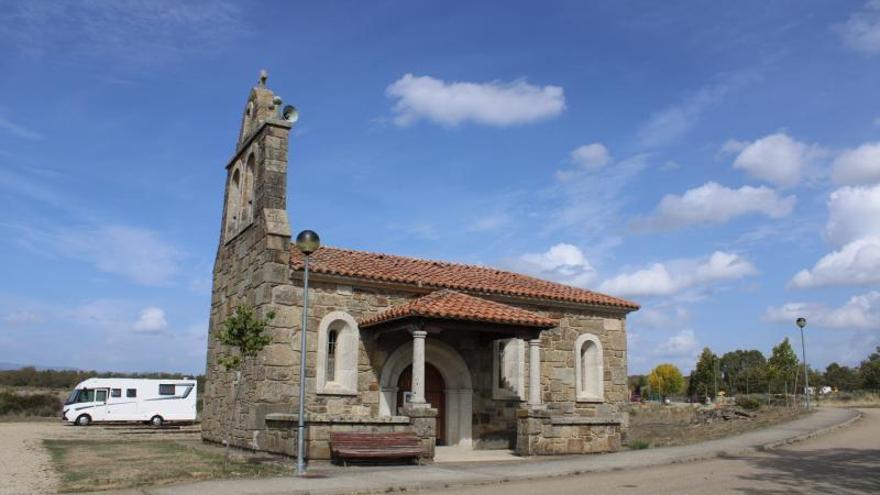
[[[552,328],[558,322],[524,309],[469,296],[454,290],[442,289],[394,306],[376,316],[361,321],[361,328],[378,325],[400,318],[422,316],[452,320],[480,321],[506,325]]]

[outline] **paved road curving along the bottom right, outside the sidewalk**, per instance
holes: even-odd
[[[455,490],[456,495],[880,494],[880,409],[801,443],[710,461]],[[424,492],[448,495],[448,491]],[[421,495],[421,494],[420,494]]]

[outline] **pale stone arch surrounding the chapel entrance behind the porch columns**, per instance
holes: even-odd
[[[407,369],[412,369],[411,343],[403,344],[394,350],[382,366],[379,377],[379,415],[392,416],[398,414],[398,384],[400,376]],[[444,425],[442,430],[438,423],[438,433],[442,431],[446,445],[470,447],[473,431],[473,387],[471,372],[461,355],[438,339],[428,338],[425,342],[425,378],[427,369],[433,367],[443,380],[442,409]],[[437,407],[430,397],[425,400]],[[440,411],[438,411],[440,413]]]

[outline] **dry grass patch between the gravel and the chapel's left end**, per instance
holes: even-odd
[[[217,478],[290,474],[280,463],[233,460],[200,440],[43,440],[62,492],[98,491]]]

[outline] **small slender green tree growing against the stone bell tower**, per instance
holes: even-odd
[[[272,342],[272,337],[265,335],[266,326],[275,318],[275,313],[269,312],[265,319],[257,317],[254,308],[242,304],[236,306],[232,316],[223,322],[223,327],[217,332],[217,340],[231,349],[228,354],[221,356],[218,361],[226,368],[226,371],[235,371],[235,377],[232,380],[233,392],[232,402],[235,410],[239,409],[238,389],[241,386],[242,365],[254,358],[264,347]],[[224,467],[229,462],[229,444],[230,431],[232,430],[232,421],[226,426],[226,456],[224,459]]]

